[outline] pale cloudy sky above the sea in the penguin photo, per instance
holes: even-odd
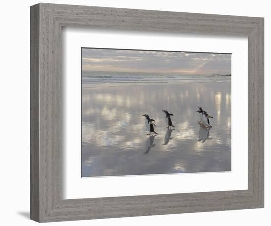
[[[231,74],[231,54],[83,48],[82,70]]]

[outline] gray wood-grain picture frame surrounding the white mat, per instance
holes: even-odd
[[[41,3],[31,6],[30,19],[32,220],[52,222],[264,207],[263,18]],[[63,199],[61,36],[62,27],[67,26],[248,37],[248,189]]]

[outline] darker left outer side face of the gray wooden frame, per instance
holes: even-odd
[[[30,12],[30,218],[39,221],[39,6]]]

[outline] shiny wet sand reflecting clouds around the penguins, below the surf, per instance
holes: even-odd
[[[197,123],[198,106],[214,117],[209,131]],[[174,114],[172,130],[162,110]],[[218,171],[231,171],[231,82],[83,84],[82,177]]]

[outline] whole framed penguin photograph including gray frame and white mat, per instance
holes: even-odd
[[[31,219],[264,207],[264,19],[31,6]]]

